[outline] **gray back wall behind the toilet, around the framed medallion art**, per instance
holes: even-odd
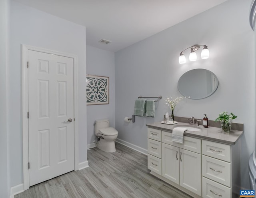
[[[87,144],[93,144],[95,120],[109,118],[115,127],[115,58],[114,52],[86,46],[86,73],[109,77],[109,104],[87,106]],[[89,146],[89,145],[88,145]]]

